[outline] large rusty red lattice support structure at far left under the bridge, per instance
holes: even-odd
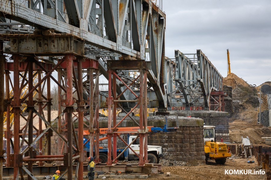
[[[46,32],[46,31],[44,31]],[[26,38],[26,36],[25,36]],[[37,38],[37,37],[35,37]],[[44,37],[41,41],[44,42],[47,37]],[[62,38],[63,40],[67,36],[57,36],[57,38]],[[73,37],[69,37],[70,43],[80,44],[80,40],[74,40]],[[23,41],[23,40],[22,40]],[[61,47],[58,44],[58,41],[55,41],[55,46]],[[25,49],[30,49],[31,43],[28,44],[29,47],[24,47]],[[67,169],[62,173],[64,175],[67,173],[68,179],[73,178],[73,165],[76,164],[76,178],[79,180],[83,179],[83,162],[85,159],[85,152],[83,150],[83,130],[89,128],[91,130],[91,142],[94,142],[94,132],[96,131],[96,139],[99,138],[99,124],[98,124],[98,82],[99,82],[99,70],[98,70],[98,61],[93,59],[84,59],[82,56],[75,57],[76,53],[72,53],[73,50],[79,52],[76,48],[80,46],[71,47],[71,44],[62,44],[63,48],[59,48],[58,54],[62,55],[63,58],[57,59],[57,64],[52,67],[51,63],[44,63],[37,60],[36,56],[31,56],[33,54],[39,54],[35,50],[26,53],[24,50],[20,49],[17,53],[28,54],[29,56],[24,57],[18,54],[13,54],[13,62],[5,63],[5,79],[6,79],[6,92],[9,95],[9,85],[10,77],[9,71],[13,71],[14,82],[11,82],[11,87],[13,90],[13,96],[9,97],[7,95],[6,105],[9,107],[9,104],[12,105],[12,112],[14,113],[14,132],[11,131],[10,124],[7,123],[7,131],[5,137],[9,139],[7,141],[7,147],[13,146],[14,154],[7,154],[7,165],[14,167],[14,179],[19,178],[19,169],[23,169],[28,174],[28,179],[35,179],[32,174],[32,164],[33,162],[39,161],[64,161],[64,165],[67,166]],[[51,46],[53,47],[53,46]],[[67,48],[69,47],[70,53],[67,53]],[[74,49],[75,48],[75,49]],[[20,51],[23,51],[21,53]],[[65,54],[64,54],[65,53]],[[39,54],[45,55],[45,54]],[[50,55],[50,53],[48,54]],[[78,54],[76,54],[78,55]],[[83,55],[83,54],[81,54]],[[3,66],[4,67],[4,66]],[[58,69],[58,80],[56,80],[51,73]],[[4,72],[4,71],[3,71]],[[42,75],[45,74],[44,77]],[[87,74],[87,80],[83,82],[83,77],[86,77],[84,74]],[[95,74],[95,84],[93,81],[93,76]],[[38,81],[35,83],[33,77],[38,76]],[[19,79],[21,77],[21,80]],[[91,81],[92,78],[92,81]],[[51,102],[50,97],[50,81],[55,81],[59,87],[59,106],[58,106],[58,117],[54,120],[51,120]],[[47,81],[47,82],[46,82]],[[47,94],[43,94],[45,89],[45,84],[47,86]],[[23,90],[25,86],[28,86],[28,90]],[[75,89],[75,91],[74,91]],[[23,95],[22,92],[24,91]],[[34,91],[38,92],[37,101],[33,99]],[[61,92],[62,91],[62,92]],[[91,94],[90,94],[91,93]],[[76,96],[74,96],[76,95]],[[47,96],[47,97],[46,97]],[[87,96],[91,96],[92,100],[87,101]],[[56,99],[54,99],[56,100]],[[9,103],[10,102],[10,103]],[[74,104],[76,102],[76,105]],[[87,105],[91,108],[92,122],[87,126],[84,123],[83,119],[85,107]],[[28,112],[28,117],[23,117],[21,113],[21,107],[25,106],[26,112]],[[47,106],[48,118],[43,117],[43,109]],[[36,108],[35,108],[36,107]],[[64,111],[62,111],[64,107]],[[77,114],[74,114],[74,108],[76,108]],[[37,110],[36,110],[37,109]],[[94,113],[95,112],[95,113]],[[7,113],[8,110],[7,110]],[[26,121],[26,125],[20,129],[20,116]],[[35,116],[39,117],[39,127],[33,126],[33,118]],[[9,115],[7,115],[9,117]],[[77,117],[77,119],[76,119]],[[74,123],[76,120],[78,123],[78,129],[75,128]],[[56,130],[53,125],[58,122],[58,130]],[[42,123],[45,123],[46,128],[42,129]],[[64,123],[64,124],[63,124]],[[84,127],[86,124],[86,127]],[[64,125],[64,126],[63,126]],[[92,126],[92,127],[90,127]],[[36,131],[34,133],[33,131]],[[76,131],[78,135],[76,136]],[[52,132],[58,136],[58,149],[61,149],[60,154],[51,155],[50,145],[47,145],[47,155],[45,155],[45,146],[42,143],[42,138],[46,136],[47,144],[51,143],[50,137]],[[61,134],[62,133],[62,134]],[[33,139],[33,135],[37,137]],[[28,141],[25,137],[28,136]],[[11,138],[14,137],[14,143],[12,143]],[[78,138],[77,138],[78,137]],[[20,140],[21,139],[21,140]],[[73,139],[75,142],[73,142]],[[21,143],[20,143],[21,141]],[[49,142],[48,142],[49,141]],[[27,143],[28,147],[22,150],[23,142]],[[38,151],[33,148],[33,145],[39,142]],[[63,144],[62,144],[63,142]],[[75,145],[73,145],[73,143]],[[95,148],[98,151],[99,142],[95,143]],[[46,143],[45,143],[46,144]],[[62,146],[60,148],[60,146]],[[64,149],[65,147],[65,149]],[[93,151],[93,149],[92,149]],[[65,152],[65,153],[63,153]],[[23,158],[23,155],[25,156]],[[96,154],[96,160],[99,160],[98,153]],[[28,163],[28,167],[22,165],[23,162]],[[42,165],[42,163],[39,163]],[[21,174],[22,176],[23,174]]]

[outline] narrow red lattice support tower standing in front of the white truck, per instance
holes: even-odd
[[[107,153],[107,165],[111,166],[112,163],[117,160],[117,137],[119,137],[126,145],[127,148],[130,148],[128,145],[118,134],[124,132],[117,132],[117,127],[121,124],[122,121],[125,120],[129,114],[139,106],[140,109],[140,118],[139,118],[139,154],[133,151],[136,156],[139,157],[139,166],[143,166],[145,163],[148,163],[148,128],[147,128],[147,74],[148,68],[150,64],[145,62],[144,60],[132,60],[132,61],[107,61],[108,63],[108,130],[107,130],[107,139],[108,139],[108,153]],[[135,78],[130,84],[126,84],[117,74],[117,70],[139,70],[139,76]],[[112,78],[112,79],[111,79]],[[139,96],[134,93],[131,89],[132,84],[139,79]],[[120,81],[126,87],[126,89],[121,93],[117,94],[116,91],[116,83]],[[119,100],[120,96],[126,91],[129,90],[136,97],[134,100],[124,100],[127,102],[136,102],[136,105],[129,111],[126,116],[123,117],[121,121],[117,123],[117,114],[116,109],[119,102],[123,102],[123,100]],[[112,94],[113,93],[113,94]],[[129,133],[129,132],[125,132]],[[131,133],[131,132],[130,132]],[[111,144],[113,140],[113,145]],[[113,148],[112,148],[113,147]],[[113,162],[111,160],[111,156],[113,157]]]

